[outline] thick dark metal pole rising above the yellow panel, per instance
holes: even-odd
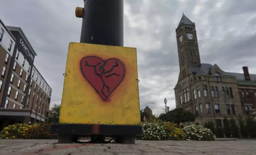
[[[84,0],[80,43],[124,45],[124,0]]]

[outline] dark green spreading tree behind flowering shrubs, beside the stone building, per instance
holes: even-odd
[[[177,123],[178,127],[180,127],[180,122],[193,122],[195,121],[196,116],[183,108],[176,108],[167,113],[162,113],[159,116],[159,119]]]

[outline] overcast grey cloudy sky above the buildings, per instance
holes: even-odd
[[[69,42],[80,42],[83,0],[1,0],[0,18],[19,26],[37,52],[35,66],[61,101]],[[196,23],[201,62],[256,74],[256,0],[125,0],[124,46],[136,47],[141,109],[175,108],[178,79],[175,28],[182,12]]]

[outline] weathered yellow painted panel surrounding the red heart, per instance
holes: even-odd
[[[123,62],[123,81],[104,101],[83,77],[80,60],[87,56]],[[59,123],[137,125],[140,123],[136,48],[70,43]]]

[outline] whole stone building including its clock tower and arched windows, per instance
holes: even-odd
[[[249,115],[256,108],[256,75],[225,72],[201,63],[195,23],[184,14],[176,28],[180,73],[174,88],[176,107],[194,113],[196,122],[223,127],[223,119]]]

